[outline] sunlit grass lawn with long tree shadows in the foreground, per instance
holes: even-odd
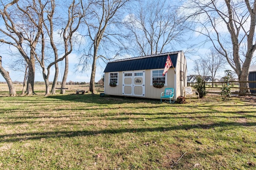
[[[256,102],[0,92],[0,169],[256,169]]]

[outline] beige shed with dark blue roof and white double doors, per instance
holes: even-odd
[[[168,55],[173,65],[163,76]],[[174,88],[176,99],[182,96],[182,89],[187,84],[186,58],[183,51],[175,51],[120,59],[106,65],[104,76],[105,94],[108,95],[160,99],[165,88]]]

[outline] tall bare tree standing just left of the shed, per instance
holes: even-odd
[[[86,37],[91,42],[87,49],[87,53],[83,55],[79,63],[82,63],[82,70],[86,70],[92,64],[92,72],[90,78],[90,92],[95,93],[95,73],[98,59],[104,61],[113,58],[109,56],[111,50],[121,51],[118,45],[122,44],[121,33],[117,33],[123,18],[122,8],[131,0],[88,0],[91,4],[84,23],[87,27],[88,33]],[[116,41],[115,41],[116,40]],[[104,46],[107,45],[107,46]],[[111,48],[110,48],[111,47]],[[117,49],[115,49],[117,47]],[[104,51],[109,51],[106,53]],[[106,55],[104,56],[104,54]],[[115,56],[118,56],[116,52]],[[78,64],[81,66],[81,64]]]

